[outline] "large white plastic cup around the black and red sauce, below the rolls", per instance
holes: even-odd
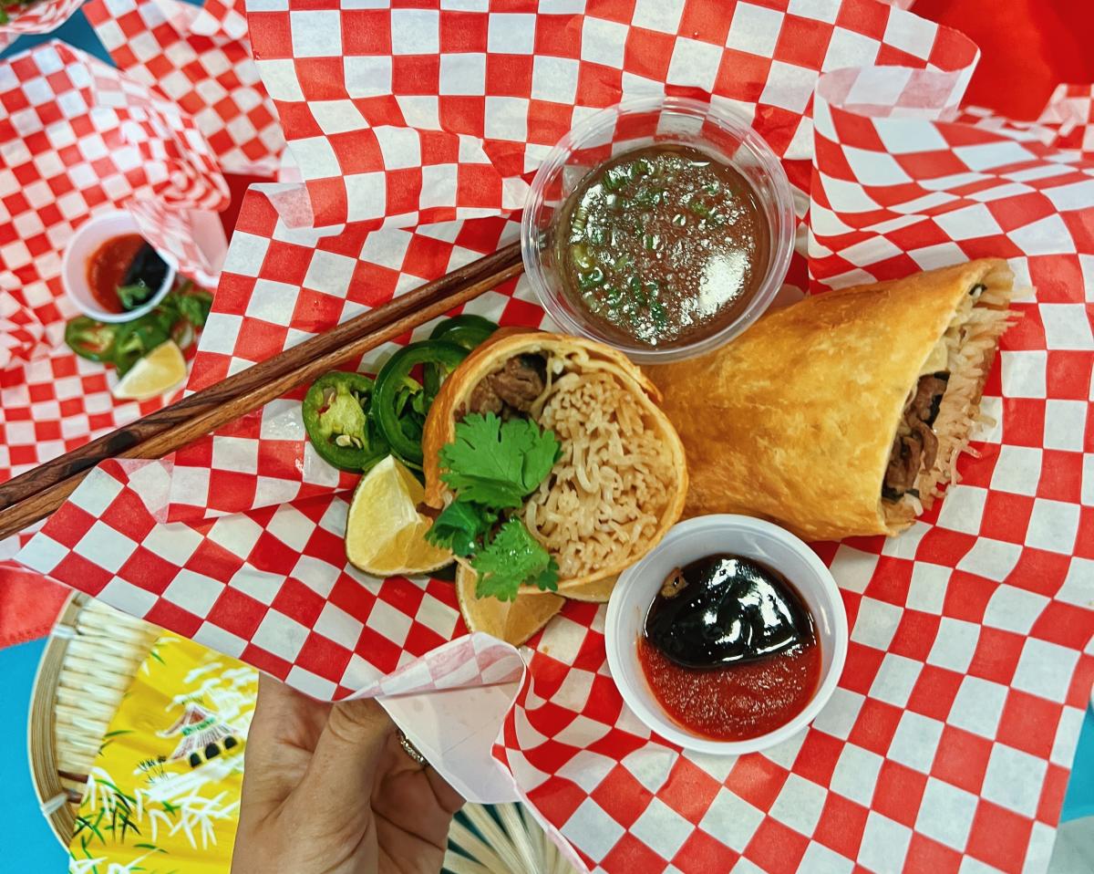
[[[653,697],[638,659],[645,614],[675,567],[717,553],[754,559],[794,587],[813,614],[821,644],[821,681],[805,709],[785,725],[748,740],[715,740],[693,733]],[[847,611],[836,580],[816,554],[777,525],[747,516],[699,516],[674,526],[664,540],[616,583],[605,623],[608,667],[627,706],[666,740],[696,752],[740,756],[772,747],[802,731],[831,698],[847,658]]]

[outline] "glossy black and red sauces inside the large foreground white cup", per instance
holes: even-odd
[[[711,555],[670,575],[638,641],[665,712],[715,740],[747,740],[801,713],[821,679],[813,617],[779,574]]]

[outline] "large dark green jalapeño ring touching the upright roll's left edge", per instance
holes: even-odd
[[[451,373],[466,357],[467,349],[455,343],[446,340],[423,340],[399,349],[376,375],[372,417],[392,451],[404,462],[418,467],[422,461],[421,424],[412,418],[404,424],[404,419],[416,414],[410,403],[414,390],[406,391],[410,371],[418,365],[437,365]],[[426,390],[419,387],[419,391]],[[419,402],[419,409],[428,412],[432,401],[432,395],[427,392],[423,401]],[[411,437],[408,432],[417,433],[418,438]]]

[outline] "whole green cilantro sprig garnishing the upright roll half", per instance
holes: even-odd
[[[470,556],[479,598],[512,600],[523,584],[558,589],[555,560],[524,522],[503,514],[539,487],[561,453],[552,432],[523,418],[502,422],[493,413],[466,416],[456,424],[455,439],[441,449],[441,479],[456,499],[426,539]]]

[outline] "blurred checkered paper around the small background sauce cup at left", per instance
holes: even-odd
[[[63,345],[77,315],[61,254],[93,212],[128,206],[184,275],[208,265],[188,209],[228,188],[177,106],[59,42],[0,67],[0,481],[162,405],[115,403],[113,373]],[[0,551],[7,557],[11,544]]]

